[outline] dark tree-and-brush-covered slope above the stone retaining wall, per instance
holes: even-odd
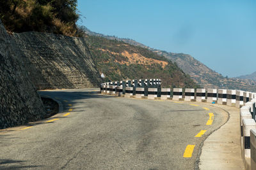
[[[79,36],[77,0],[0,1],[0,19],[10,32],[50,32]]]

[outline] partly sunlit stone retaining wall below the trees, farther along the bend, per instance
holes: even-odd
[[[12,38],[36,89],[99,87],[100,74],[84,38],[42,32]]]

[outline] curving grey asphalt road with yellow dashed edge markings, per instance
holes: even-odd
[[[194,169],[200,144],[227,121],[226,113],[203,103],[93,90],[40,92],[61,101],[63,112],[0,131],[0,169]],[[214,120],[206,125],[209,113]],[[184,157],[188,145],[195,148]]]

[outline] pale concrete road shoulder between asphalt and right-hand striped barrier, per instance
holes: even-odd
[[[239,109],[214,105],[230,115],[226,124],[204,141],[199,169],[244,169],[239,138]]]

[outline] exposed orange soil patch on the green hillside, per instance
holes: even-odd
[[[140,53],[129,53],[127,51],[124,51],[122,53],[116,53],[116,52],[110,52],[109,50],[104,50],[102,48],[98,48],[98,50],[102,50],[103,52],[109,52],[113,55],[123,55],[124,57],[127,57],[128,61],[122,60],[118,61],[115,60],[116,62],[119,62],[120,64],[143,64],[143,65],[151,65],[151,64],[160,64],[163,68],[168,65],[168,62],[163,61],[163,60],[156,60],[156,59],[150,59],[147,57],[144,57]]]

